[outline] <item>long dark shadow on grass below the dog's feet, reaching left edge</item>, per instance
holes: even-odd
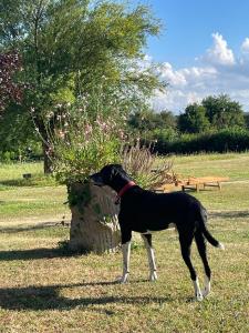
[[[134,282],[139,283],[139,282]],[[65,310],[70,311],[74,307],[87,307],[93,305],[108,305],[114,303],[123,304],[149,304],[173,302],[173,297],[166,295],[164,297],[155,296],[103,296],[103,297],[77,297],[69,299],[60,295],[61,289],[87,287],[97,285],[113,285],[116,282],[96,282],[96,283],[79,283],[65,285],[49,285],[49,286],[27,286],[27,287],[10,287],[0,289],[0,307],[8,310]],[[106,314],[110,311],[104,311]]]

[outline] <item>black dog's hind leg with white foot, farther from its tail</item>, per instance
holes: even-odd
[[[178,230],[179,231],[179,230]],[[180,242],[180,250],[181,250],[181,255],[183,259],[189,270],[190,273],[190,278],[194,284],[194,289],[195,289],[195,296],[197,299],[197,301],[203,301],[203,294],[199,287],[199,281],[198,278],[196,275],[196,271],[191,264],[191,260],[190,260],[190,246],[191,246],[191,242],[193,242],[193,234],[189,233],[180,233],[179,231],[179,242]]]

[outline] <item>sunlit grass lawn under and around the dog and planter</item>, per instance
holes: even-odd
[[[32,184],[23,182],[23,168]],[[132,251],[131,281],[121,253],[72,255],[61,216],[64,186],[42,176],[41,164],[0,165],[0,332],[248,332],[249,153],[176,157],[176,172],[225,175],[221,191],[200,191],[209,230],[226,246],[208,245],[212,291],[193,300],[193,286],[173,230],[156,233],[158,282],[147,282],[145,249]],[[27,171],[25,171],[27,172]],[[203,266],[193,246],[203,283]]]

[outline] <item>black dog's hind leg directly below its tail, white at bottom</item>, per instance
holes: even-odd
[[[197,231],[195,233],[195,240],[196,240],[196,245],[197,245],[199,255],[204,263],[205,286],[203,290],[203,295],[205,297],[210,293],[210,290],[211,290],[211,282],[210,282],[211,281],[211,270],[209,268],[208,260],[207,260],[206,240],[205,240],[201,231]]]

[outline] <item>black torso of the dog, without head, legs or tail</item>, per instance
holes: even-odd
[[[138,232],[164,230],[170,223],[178,229],[185,223],[189,225],[189,221],[195,222],[194,216],[199,216],[201,210],[200,202],[187,193],[158,194],[136,186],[123,196],[120,220]]]

